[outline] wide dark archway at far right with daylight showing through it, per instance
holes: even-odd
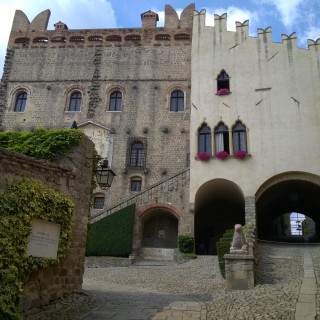
[[[267,180],[256,193],[257,232],[262,240],[313,241],[320,239],[320,177],[286,172]],[[312,237],[293,237],[288,216],[298,212],[314,223]]]

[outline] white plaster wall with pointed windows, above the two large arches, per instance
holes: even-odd
[[[300,49],[296,39],[273,43],[271,33],[255,38],[247,30],[244,26],[227,31],[226,19],[208,27],[205,14],[194,17],[191,203],[199,187],[215,178],[235,182],[249,196],[279,173],[320,175],[320,45]],[[222,69],[230,76],[231,94],[217,96],[216,77]],[[222,120],[231,130],[237,119],[248,129],[251,156],[208,162],[195,159],[202,122],[213,130]]]

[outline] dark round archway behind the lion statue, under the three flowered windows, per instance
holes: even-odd
[[[216,254],[216,242],[227,229],[245,222],[241,189],[232,181],[214,179],[203,184],[195,197],[195,251]]]

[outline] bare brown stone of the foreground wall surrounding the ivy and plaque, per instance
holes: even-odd
[[[48,304],[65,294],[81,291],[93,147],[88,138],[83,138],[80,145],[72,149],[70,158],[60,159],[57,163],[0,149],[0,191],[7,182],[28,177],[63,192],[75,205],[71,247],[57,266],[40,269],[26,277],[22,305],[25,310]]]

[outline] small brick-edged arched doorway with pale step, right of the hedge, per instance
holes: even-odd
[[[173,260],[180,213],[171,205],[155,204],[140,211],[141,255],[145,259]]]

